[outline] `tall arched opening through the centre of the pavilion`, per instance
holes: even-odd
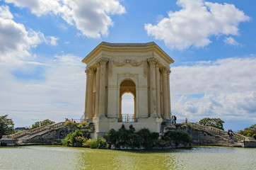
[[[120,122],[136,122],[136,86],[131,80],[120,84]]]

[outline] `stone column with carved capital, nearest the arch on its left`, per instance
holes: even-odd
[[[105,117],[105,93],[106,93],[106,64],[107,59],[101,58],[100,63],[100,94],[99,94],[99,112],[100,117]]]

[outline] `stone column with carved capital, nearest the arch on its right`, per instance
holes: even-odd
[[[155,58],[148,59],[150,69],[150,117],[156,118],[156,63]]]

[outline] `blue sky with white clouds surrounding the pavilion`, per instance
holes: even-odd
[[[16,127],[81,118],[100,42],[151,42],[171,64],[178,120],[256,123],[255,0],[0,0],[0,115]]]

